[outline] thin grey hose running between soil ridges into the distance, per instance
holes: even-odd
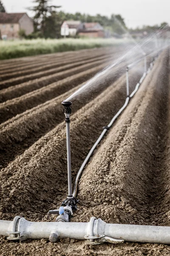
[[[161,49],[162,50],[162,49]],[[78,189],[78,182],[79,182],[79,178],[82,175],[82,172],[86,166],[86,164],[88,163],[91,155],[93,154],[96,146],[100,143],[100,141],[102,140],[102,138],[104,137],[105,133],[108,131],[108,129],[113,125],[113,122],[115,122],[115,120],[117,119],[117,117],[122,113],[122,111],[124,111],[124,109],[127,107],[130,98],[132,98],[134,96],[134,94],[137,92],[137,90],[139,89],[140,84],[142,84],[142,81],[144,80],[144,78],[147,76],[147,74],[150,72],[150,70],[153,67],[154,62],[156,61],[156,58],[153,62],[150,63],[150,67],[148,68],[147,72],[144,72],[139,83],[136,84],[135,89],[133,90],[133,92],[130,94],[130,96],[128,96],[128,90],[127,90],[127,98],[125,100],[124,105],[122,106],[122,108],[119,109],[119,111],[116,113],[115,116],[113,116],[111,122],[104,127],[104,130],[102,131],[102,133],[100,134],[99,138],[96,140],[96,142],[94,143],[93,147],[91,148],[91,150],[89,151],[87,157],[85,158],[84,162],[82,163],[82,166],[79,169],[79,172],[77,173],[75,182],[74,182],[74,190],[73,190],[73,196],[76,197],[77,195],[77,189]],[[127,71],[128,72],[128,71]]]

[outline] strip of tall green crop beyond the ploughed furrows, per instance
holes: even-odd
[[[115,38],[64,38],[64,39],[33,39],[19,41],[0,41],[0,59],[18,58],[24,56],[74,51],[94,47],[119,45],[127,41]]]

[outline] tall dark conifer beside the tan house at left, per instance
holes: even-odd
[[[50,0],[34,0],[33,3],[37,3],[37,6],[28,8],[31,11],[35,12],[35,15],[33,17],[34,24],[37,27],[40,27],[40,31],[42,35],[45,34],[45,26],[46,21],[48,20],[48,17],[54,15],[54,12],[57,8],[60,8],[61,6],[54,6],[54,5],[48,5]],[[51,19],[51,26],[54,25],[54,20]]]

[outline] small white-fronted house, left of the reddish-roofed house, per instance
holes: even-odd
[[[61,35],[75,36],[79,30],[81,21],[79,20],[65,20],[61,25]]]

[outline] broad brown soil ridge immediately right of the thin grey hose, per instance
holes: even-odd
[[[169,56],[164,56],[86,168],[79,186],[81,221],[90,211],[111,223],[150,224],[150,187],[169,103],[168,66]]]

